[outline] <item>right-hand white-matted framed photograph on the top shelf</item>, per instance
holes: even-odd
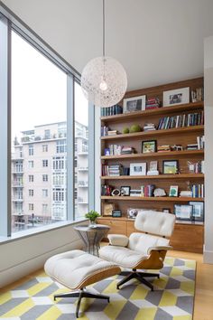
[[[190,87],[163,92],[163,107],[190,103]]]

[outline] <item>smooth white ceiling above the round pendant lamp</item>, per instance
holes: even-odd
[[[3,3],[79,72],[102,54],[101,0]],[[106,55],[124,65],[128,89],[200,76],[212,13],[212,0],[106,0]]]

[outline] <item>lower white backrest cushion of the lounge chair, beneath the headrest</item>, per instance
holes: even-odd
[[[169,241],[166,238],[156,237],[151,234],[134,232],[129,237],[128,249],[139,251],[146,255],[151,247],[168,246]]]

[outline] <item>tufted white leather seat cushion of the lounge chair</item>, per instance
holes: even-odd
[[[133,268],[138,262],[147,258],[142,252],[134,251],[125,247],[106,246],[99,250],[102,259],[113,261],[121,267]]]

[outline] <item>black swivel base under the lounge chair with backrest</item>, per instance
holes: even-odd
[[[118,284],[116,285],[116,288],[119,289],[120,286],[124,285],[129,280],[136,278],[141,283],[143,283],[145,286],[150,287],[153,291],[153,285],[145,279],[145,277],[157,277],[160,278],[160,275],[158,273],[149,273],[149,272],[136,272],[134,269],[133,272],[129,273],[128,271],[122,271],[120,273],[120,276],[125,276]]]

